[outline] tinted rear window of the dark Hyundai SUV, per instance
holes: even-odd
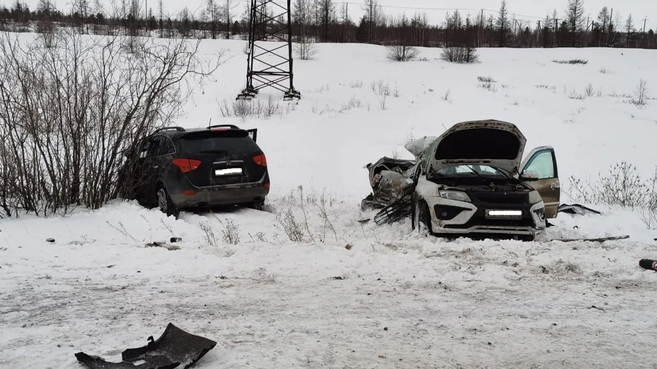
[[[181,138],[182,147],[190,154],[203,153],[255,153],[260,151],[246,130],[220,132],[193,132]]]

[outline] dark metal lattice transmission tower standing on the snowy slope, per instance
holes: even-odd
[[[290,0],[251,0],[246,88],[237,100],[250,100],[265,87],[283,92],[283,100],[301,98],[292,78],[291,24]]]

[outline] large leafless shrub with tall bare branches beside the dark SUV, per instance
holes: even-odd
[[[198,58],[200,41],[147,39],[126,54],[121,37],[95,40],[62,29],[46,47],[0,33],[5,212],[61,214],[131,198],[138,179],[125,158],[136,159],[145,135],[181,114],[191,77],[202,83],[220,64]]]

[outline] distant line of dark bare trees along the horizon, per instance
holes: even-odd
[[[154,4],[155,9],[144,9],[143,0],[120,0],[111,12],[102,9],[99,3],[99,0],[93,0],[93,4],[90,0],[74,0],[72,9],[62,12],[51,0],[39,0],[35,10],[16,0],[9,9],[0,8],[0,30],[44,33],[63,26],[101,35],[125,32],[130,36],[248,39],[248,9],[236,10],[234,0],[206,0],[200,16],[194,16],[187,7],[177,14],[165,14],[162,0]],[[657,38],[652,29],[645,29],[645,20],[637,29],[631,15],[622,20],[618,12],[614,14],[614,10],[607,7],[602,8],[596,18],[589,18],[585,15],[588,13],[584,11],[583,0],[568,0],[563,14],[554,10],[532,24],[510,15],[506,0],[501,2],[496,16],[486,15],[484,10],[474,16],[455,10],[445,14],[445,21],[440,25],[429,24],[428,17],[421,12],[412,16],[384,14],[378,0],[363,0],[363,5],[358,6],[365,14],[358,22],[353,22],[349,12],[354,6],[335,0],[293,0],[293,41],[413,47],[657,49]],[[256,22],[262,29],[277,33],[281,29],[277,22],[286,23],[281,9],[273,3],[265,1],[260,10]]]

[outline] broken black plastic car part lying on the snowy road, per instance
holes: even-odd
[[[150,336],[148,345],[126,349],[121,353],[122,362],[108,362],[83,352],[75,355],[89,369],[184,369],[192,366],[215,345],[215,341],[187,333],[169,323],[157,340]]]

